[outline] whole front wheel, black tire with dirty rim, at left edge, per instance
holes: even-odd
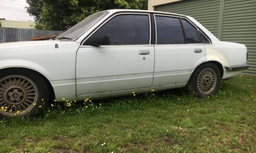
[[[42,110],[42,99],[46,102],[49,100],[47,82],[32,70],[0,70],[0,83],[0,119],[34,117]]]

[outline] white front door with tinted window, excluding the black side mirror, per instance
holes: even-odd
[[[76,94],[150,87],[154,72],[150,31],[147,13],[118,13],[97,28],[92,35],[106,35],[110,44],[88,46],[85,40],[80,46],[76,56]]]

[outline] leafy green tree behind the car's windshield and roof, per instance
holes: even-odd
[[[67,30],[85,17],[107,9],[147,9],[147,0],[26,0],[36,28]]]

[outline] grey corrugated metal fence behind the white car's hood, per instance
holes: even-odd
[[[35,30],[0,27],[0,43],[29,41],[29,38],[46,35],[60,35],[63,31]]]

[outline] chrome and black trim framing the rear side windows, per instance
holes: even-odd
[[[191,23],[191,25],[192,25],[193,27],[196,28],[196,30],[197,30],[197,35],[199,36],[199,39],[200,39],[201,43],[199,43],[199,44],[187,44],[186,38],[185,38],[185,31],[184,31],[184,28],[183,28],[183,24],[181,23],[182,31],[183,31],[183,36],[184,36],[184,40],[185,40],[185,44],[157,44],[157,22],[156,22],[156,20],[155,20],[155,16],[176,17],[176,18],[179,18],[179,19],[180,19],[180,23],[181,23],[181,18],[184,19],[184,20],[186,20],[186,21],[188,21],[189,23]],[[177,46],[177,45],[180,46],[180,45],[202,45],[202,44],[204,44],[204,43],[203,43],[203,40],[201,39],[200,33],[199,33],[199,31],[202,32],[202,30],[200,30],[194,23],[192,23],[192,22],[191,22],[190,20],[188,20],[186,17],[154,13],[154,20],[155,20],[155,46]],[[203,33],[203,32],[202,32],[202,33]],[[204,34],[204,33],[203,33],[203,34]],[[204,34],[204,36],[206,36],[206,35]],[[206,38],[210,41],[210,44],[204,44],[204,45],[211,45],[211,44],[212,44],[212,43],[211,43],[211,40],[208,38],[208,36],[206,36]]]

